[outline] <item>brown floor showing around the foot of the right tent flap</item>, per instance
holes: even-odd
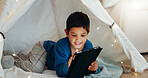
[[[148,62],[148,53],[142,54],[144,56],[144,58],[147,60]],[[126,62],[124,62],[126,63]],[[130,69],[131,65],[130,64],[126,64],[127,66],[126,69]],[[129,74],[123,73],[121,78],[148,78],[148,69],[146,69],[143,73],[135,73],[134,70],[132,69],[132,72]]]

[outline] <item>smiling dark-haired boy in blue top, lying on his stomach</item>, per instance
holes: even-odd
[[[44,48],[47,51],[47,66],[56,70],[59,77],[65,77],[75,52],[93,48],[92,43],[87,39],[90,32],[90,22],[86,14],[82,12],[72,13],[66,21],[65,38],[57,43],[45,41]],[[53,47],[51,47],[53,46]],[[98,63],[94,61],[88,70],[97,73]]]

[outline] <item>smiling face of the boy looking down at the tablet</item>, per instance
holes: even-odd
[[[83,27],[72,27],[66,35],[69,37],[71,48],[83,49],[88,33]]]

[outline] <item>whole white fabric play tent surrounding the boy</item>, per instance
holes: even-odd
[[[17,54],[38,41],[64,37],[68,15],[82,11],[91,21],[88,39],[103,47],[100,57],[116,62],[129,59],[136,72],[148,67],[99,0],[1,0],[0,6],[0,32],[6,37],[0,35],[0,58],[3,50],[12,49]],[[0,77],[4,77],[1,65]]]

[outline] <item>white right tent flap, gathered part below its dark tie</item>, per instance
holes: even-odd
[[[132,67],[137,72],[143,72],[148,67],[147,61],[143,58],[140,52],[133,46],[126,35],[122,32],[117,24],[112,29],[114,35],[118,38],[119,44],[123,48],[126,56],[131,61]],[[143,60],[143,61],[141,61]]]

